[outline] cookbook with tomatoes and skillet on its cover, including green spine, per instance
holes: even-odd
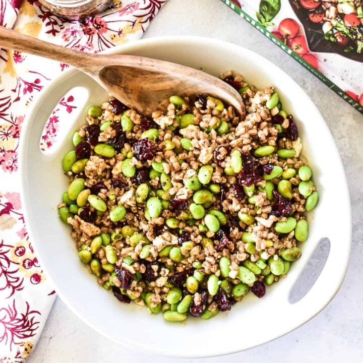
[[[363,113],[363,2],[222,2]]]

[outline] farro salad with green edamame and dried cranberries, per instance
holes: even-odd
[[[145,118],[93,106],[63,159],[58,205],[79,258],[122,302],[167,321],[209,319],[286,277],[318,203],[292,115],[273,87],[232,72],[245,114],[206,95],[171,96]]]

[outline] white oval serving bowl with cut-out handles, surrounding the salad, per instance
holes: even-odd
[[[309,213],[310,236],[302,244],[302,257],[286,279],[267,287],[259,299],[252,293],[230,312],[203,321],[166,323],[146,308],[122,304],[100,287],[80,263],[70,226],[57,217],[56,206],[67,190],[61,160],[72,145],[72,135],[84,123],[90,105],[100,104],[107,94],[93,80],[71,69],[55,78],[39,95],[22,131],[22,203],[29,235],[47,278],[69,308],[89,326],[129,347],[179,357],[226,354],[275,339],[318,314],[338,291],[349,259],[350,203],[343,167],[330,132],[314,103],[283,71],[260,55],[216,39],[162,37],[141,40],[108,50],[108,53],[143,55],[171,61],[219,75],[232,69],[257,87],[276,86],[284,109],[294,115],[312,165],[320,201]],[[65,138],[49,153],[39,149],[39,139],[54,105],[71,88],[89,91],[79,105],[81,116],[68,122]],[[63,128],[65,125],[63,125]],[[314,219],[313,219],[314,216]],[[296,304],[289,292],[322,237],[331,248],[326,265],[307,295]]]

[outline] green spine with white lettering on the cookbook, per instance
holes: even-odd
[[[340,89],[336,84],[326,78],[321,72],[312,67],[308,62],[302,59],[298,54],[291,50],[285,43],[277,39],[270,31],[268,31],[264,26],[262,26],[258,21],[254,20],[250,15],[244,12],[241,8],[232,3],[231,0],[221,0],[224,4],[228,5],[232,10],[234,10],[241,18],[247,20],[251,25],[253,25],[257,30],[269,38],[272,42],[278,45],[282,50],[289,54],[298,63],[304,66],[308,71],[310,71],[315,77],[319,78],[324,82],[330,89],[347,101],[351,106],[353,106],[357,111],[363,114],[363,107],[359,105],[358,102],[354,101],[350,96],[348,96],[342,89]]]

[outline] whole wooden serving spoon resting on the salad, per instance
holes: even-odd
[[[243,115],[239,93],[226,82],[175,63],[124,54],[89,54],[51,44],[0,27],[0,46],[69,64],[97,81],[107,92],[137,112],[149,116],[166,108],[171,95],[213,95]]]

